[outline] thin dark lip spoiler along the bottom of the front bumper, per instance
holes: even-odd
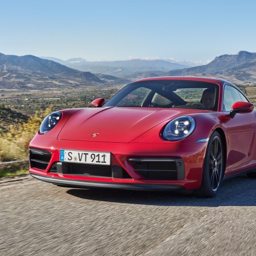
[[[34,174],[30,172],[32,177],[43,180],[55,185],[61,185],[63,187],[77,187],[77,188],[115,188],[115,189],[127,189],[127,190],[170,190],[181,191],[184,187],[175,184],[131,184],[131,183],[112,183],[112,182],[97,182],[97,181],[84,181],[84,180],[71,180],[61,179],[57,177],[48,177],[44,175]]]

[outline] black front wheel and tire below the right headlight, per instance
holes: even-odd
[[[220,134],[214,131],[209,138],[205,152],[202,183],[195,189],[194,195],[214,197],[220,188],[224,176],[224,150]]]

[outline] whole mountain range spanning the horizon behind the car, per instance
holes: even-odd
[[[240,51],[234,55],[221,55],[207,65],[189,68],[164,60],[90,62],[81,58],[67,61],[56,58],[49,59],[42,59],[33,55],[15,56],[0,53],[0,88],[122,86],[135,79],[156,76],[209,76],[226,79],[235,84],[256,84],[256,53],[247,51]],[[67,63],[73,67],[80,65],[80,68],[88,64],[88,67],[95,72],[67,67],[64,65]],[[112,72],[119,70],[120,76],[109,75],[107,71],[110,69]]]

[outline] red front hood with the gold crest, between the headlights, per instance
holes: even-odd
[[[81,109],[68,119],[58,139],[129,143],[183,112],[183,109],[125,107]]]

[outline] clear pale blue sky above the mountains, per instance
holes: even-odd
[[[1,0],[0,52],[205,64],[256,52],[255,0]]]

